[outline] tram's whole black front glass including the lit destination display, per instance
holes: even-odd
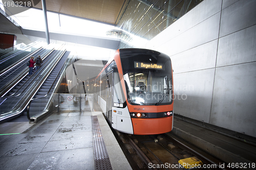
[[[173,69],[168,56],[150,50],[122,49],[120,58],[131,105],[172,104]]]

